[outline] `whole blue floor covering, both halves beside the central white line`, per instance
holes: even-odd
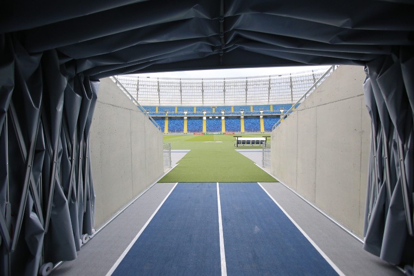
[[[219,194],[225,265],[217,184],[178,183],[112,275],[338,275],[258,183]]]

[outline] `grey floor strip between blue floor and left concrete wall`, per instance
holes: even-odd
[[[155,184],[90,239],[78,252],[78,259],[64,262],[51,275],[106,275],[174,185],[175,183]]]

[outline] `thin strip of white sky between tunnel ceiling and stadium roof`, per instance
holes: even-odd
[[[294,66],[294,67],[267,67],[267,68],[243,68],[243,69],[211,69],[178,72],[157,72],[125,76],[155,77],[155,78],[231,78],[268,76],[285,73],[303,72],[310,70],[328,70],[330,66]]]

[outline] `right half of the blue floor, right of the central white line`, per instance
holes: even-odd
[[[337,275],[257,183],[220,183],[228,276]]]

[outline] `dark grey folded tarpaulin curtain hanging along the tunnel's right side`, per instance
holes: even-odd
[[[363,248],[394,264],[414,258],[414,48],[365,67],[372,121]]]

